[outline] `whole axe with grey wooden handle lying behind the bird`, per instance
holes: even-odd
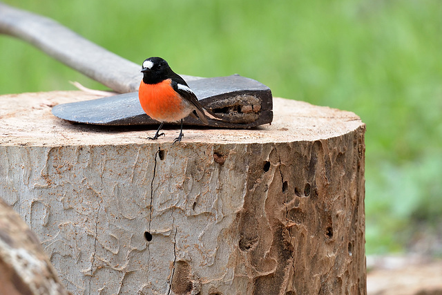
[[[70,122],[99,125],[151,125],[138,101],[141,66],[97,46],[61,24],[0,2],[0,33],[18,37],[117,93],[82,102],[59,104],[52,114]],[[209,126],[251,128],[273,119],[270,88],[256,80],[231,75],[202,78],[181,75],[200,104],[220,117]],[[193,117],[184,124],[203,125]]]

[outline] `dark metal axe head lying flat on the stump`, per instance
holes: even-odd
[[[273,119],[270,88],[256,80],[231,75],[202,78],[187,83],[200,104],[220,117],[220,120],[209,119],[209,126],[251,128],[269,124]],[[158,124],[144,113],[137,92],[59,104],[52,108],[52,114],[63,120],[83,124]],[[184,123],[205,126],[191,116],[186,117]]]

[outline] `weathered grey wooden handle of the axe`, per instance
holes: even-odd
[[[84,39],[57,21],[0,2],[0,33],[28,41],[50,57],[118,93],[138,91],[142,79],[139,64]],[[198,79],[182,77],[186,81]]]

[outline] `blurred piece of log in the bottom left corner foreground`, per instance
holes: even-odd
[[[40,241],[0,198],[0,294],[68,295]]]

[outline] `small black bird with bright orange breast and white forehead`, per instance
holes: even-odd
[[[160,122],[160,127],[149,140],[156,140],[164,133],[160,133],[164,122],[181,121],[180,135],[173,142],[181,142],[182,120],[191,115],[209,124],[195,93],[184,79],[173,72],[167,61],[161,57],[149,57],[142,64],[143,79],[140,83],[138,98],[144,112],[154,120]]]

